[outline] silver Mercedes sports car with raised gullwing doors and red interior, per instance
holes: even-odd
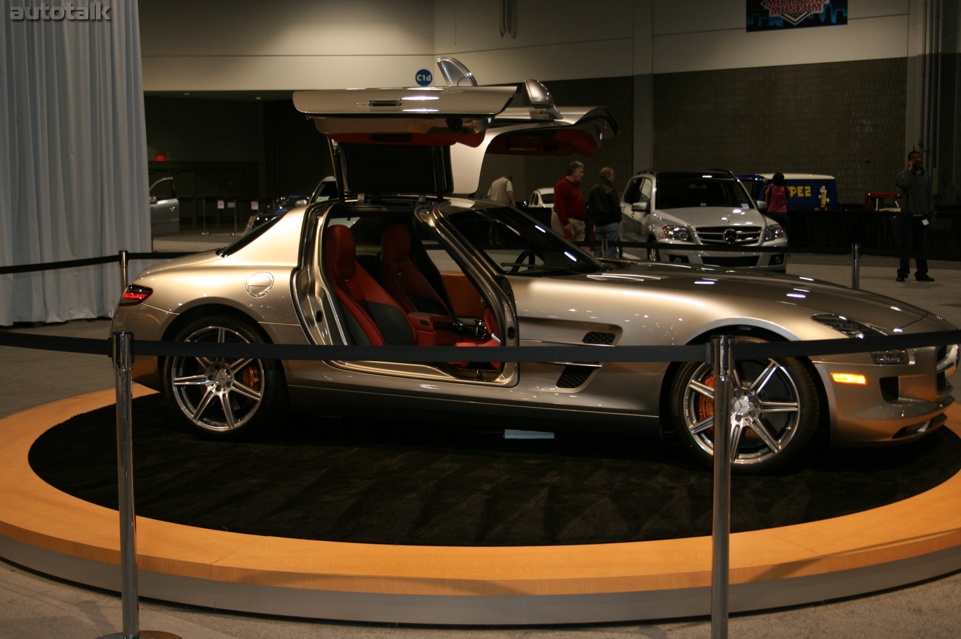
[[[533,81],[457,84],[295,94],[330,141],[339,197],[148,268],[113,328],[148,340],[472,347],[465,361],[138,356],[136,381],[213,437],[275,428],[287,410],[412,411],[524,430],[670,434],[710,461],[707,365],[519,364],[497,348],[953,329],[920,308],[809,278],[597,260],[518,209],[458,195],[477,190],[485,153],[591,156],[617,125],[603,108],[554,107]],[[735,383],[752,417],[733,430],[734,467],[769,471],[819,428],[835,445],[918,438],[944,421],[956,359],[951,346],[740,361]]]

